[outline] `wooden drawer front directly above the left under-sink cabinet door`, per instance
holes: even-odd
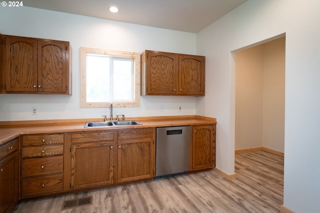
[[[72,143],[114,140],[114,131],[73,133]]]

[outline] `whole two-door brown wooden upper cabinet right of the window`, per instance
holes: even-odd
[[[204,96],[205,56],[145,50],[141,95]]]

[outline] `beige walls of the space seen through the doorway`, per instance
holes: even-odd
[[[235,150],[284,151],[285,37],[236,53]]]

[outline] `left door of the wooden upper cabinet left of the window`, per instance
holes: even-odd
[[[6,92],[32,92],[37,86],[36,39],[5,36]]]

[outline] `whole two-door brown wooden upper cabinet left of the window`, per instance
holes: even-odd
[[[2,35],[2,93],[71,94],[70,43]]]

